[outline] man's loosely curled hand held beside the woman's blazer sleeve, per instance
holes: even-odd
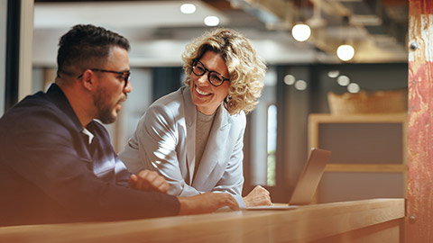
[[[137,175],[131,175],[128,186],[146,192],[169,192],[169,183],[164,177],[150,170],[142,170]]]

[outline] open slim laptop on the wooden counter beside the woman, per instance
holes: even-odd
[[[313,201],[318,183],[331,157],[331,152],[321,148],[311,148],[309,159],[299,175],[298,182],[291,194],[289,204],[246,207],[246,210],[289,210]]]

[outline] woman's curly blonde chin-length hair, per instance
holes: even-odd
[[[192,65],[207,51],[214,51],[226,62],[230,87],[224,101],[230,114],[253,111],[263,89],[266,65],[243,34],[231,29],[207,31],[185,47],[182,54],[185,85],[190,85]]]

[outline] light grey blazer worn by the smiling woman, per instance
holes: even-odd
[[[231,193],[244,207],[245,113],[230,115],[223,104],[218,107],[197,174],[193,175],[197,112],[189,86],[161,97],[143,114],[119,157],[132,173],[158,171],[169,182],[172,195]]]

